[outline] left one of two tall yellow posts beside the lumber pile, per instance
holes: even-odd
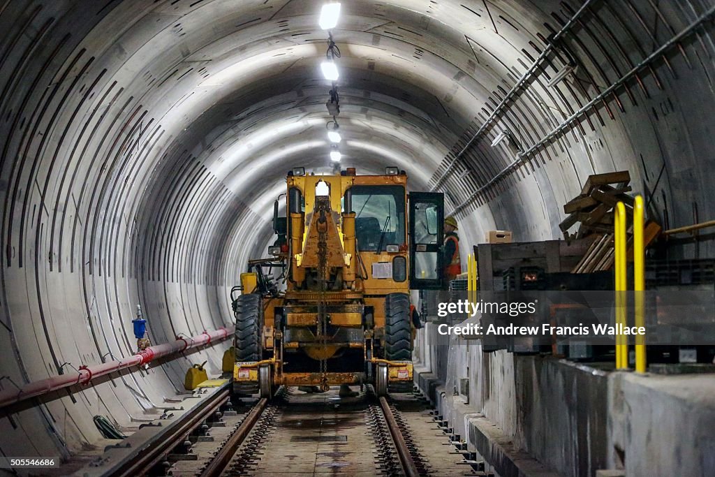
[[[616,328],[626,325],[626,288],[628,272],[626,270],[626,206],[616,204],[615,235],[613,237],[616,265]],[[621,325],[621,326],[618,326]],[[620,331],[620,330],[619,330]],[[628,342],[623,333],[616,334],[616,369],[628,368]]]

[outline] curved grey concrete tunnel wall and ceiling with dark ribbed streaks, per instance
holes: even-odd
[[[330,171],[320,5],[0,6],[3,388],[132,353],[136,303],[154,343],[230,325],[227,292],[267,240],[285,172]],[[713,217],[710,19],[543,140],[711,13],[711,1],[582,5],[343,2],[334,31],[343,164],[363,173],[395,164],[413,190],[445,192],[464,248],[494,228],[559,237],[561,205],[588,174],[618,169],[666,227]],[[455,158],[576,11],[558,49]],[[576,74],[548,86],[569,61]],[[516,141],[490,147],[505,129]],[[670,253],[711,255],[712,244]],[[181,389],[189,363],[217,371],[224,348],[4,415],[1,451],[92,446],[92,415],[129,425]]]

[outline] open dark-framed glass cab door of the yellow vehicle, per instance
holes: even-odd
[[[444,195],[410,192],[410,288],[440,290],[444,270]]]

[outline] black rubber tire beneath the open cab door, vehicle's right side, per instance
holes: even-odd
[[[390,293],[385,297],[385,359],[412,360],[412,320],[407,293]]]

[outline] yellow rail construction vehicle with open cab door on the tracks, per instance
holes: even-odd
[[[279,385],[373,384],[411,390],[410,289],[442,286],[443,195],[384,175],[287,174],[274,207],[270,258],[250,260],[233,296],[233,388],[270,397]],[[409,200],[408,200],[409,196]],[[280,271],[279,276],[276,270]]]

